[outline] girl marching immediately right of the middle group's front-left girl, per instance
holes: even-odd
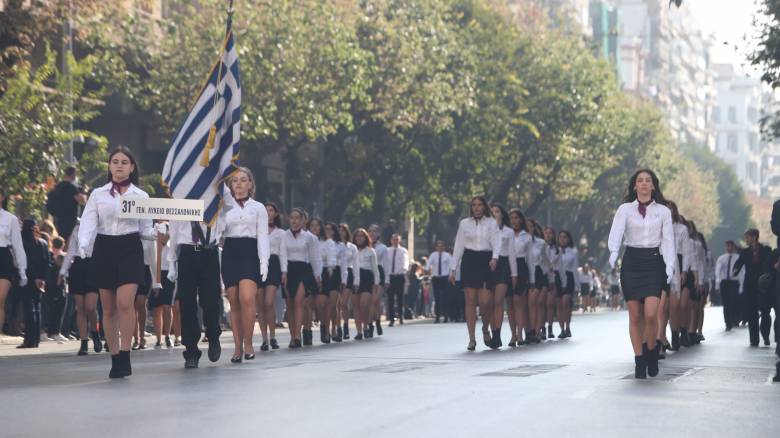
[[[501,343],[501,326],[504,322],[504,300],[507,290],[514,289],[517,284],[517,256],[513,244],[515,233],[509,224],[509,213],[500,204],[494,203],[490,209],[496,224],[498,224],[500,239],[498,262],[496,269],[493,270],[491,282],[493,294],[488,305],[489,312],[491,312],[490,326],[493,328],[490,348],[496,350],[503,345]]]

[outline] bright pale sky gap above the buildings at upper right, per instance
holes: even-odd
[[[699,27],[715,36],[715,62],[731,62],[745,72],[755,70],[745,61],[754,46],[753,16],[759,10],[757,0],[685,0]]]

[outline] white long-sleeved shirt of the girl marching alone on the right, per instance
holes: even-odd
[[[634,248],[660,248],[667,275],[675,272],[677,250],[674,247],[672,212],[665,205],[651,202],[644,218],[639,213],[638,201],[621,205],[609,231],[609,252],[617,255],[621,243]]]

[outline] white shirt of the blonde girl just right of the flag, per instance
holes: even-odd
[[[260,266],[268,266],[271,256],[268,241],[268,210],[254,199],[247,199],[241,207],[237,202],[225,202],[217,221],[217,237],[249,237],[257,239]]]

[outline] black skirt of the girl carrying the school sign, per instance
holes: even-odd
[[[90,281],[99,289],[116,290],[125,284],[144,284],[144,248],[138,233],[98,234],[92,251]]]

